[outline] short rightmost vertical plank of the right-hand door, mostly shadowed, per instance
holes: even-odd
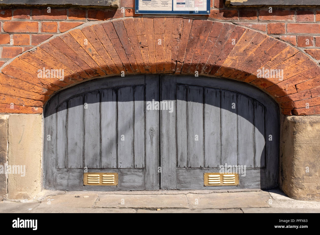
[[[254,144],[255,144],[255,168],[265,166],[265,111],[258,101],[254,102]]]

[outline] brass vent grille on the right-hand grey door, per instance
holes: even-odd
[[[239,185],[239,174],[236,173],[213,173],[206,172],[204,175],[204,186],[230,186]]]

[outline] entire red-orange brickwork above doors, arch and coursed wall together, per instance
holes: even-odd
[[[141,18],[132,6],[121,0],[119,9],[2,9],[0,52],[6,64],[0,73],[0,113],[42,113],[60,88],[120,71],[198,71],[251,83],[274,97],[284,114],[320,114],[317,9],[273,8],[271,14],[268,8],[226,8],[215,1],[210,16]],[[100,24],[114,18],[127,20]],[[77,26],[84,28],[64,33]],[[66,79],[39,79],[42,67],[64,68]],[[257,78],[262,67],[283,69],[284,81]]]

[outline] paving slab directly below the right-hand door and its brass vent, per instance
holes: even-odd
[[[269,197],[264,191],[187,194],[191,209],[269,207]]]

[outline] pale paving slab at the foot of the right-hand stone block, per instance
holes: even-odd
[[[271,207],[275,208],[320,208],[319,201],[295,200],[286,196],[282,191],[269,190],[273,199]]]

